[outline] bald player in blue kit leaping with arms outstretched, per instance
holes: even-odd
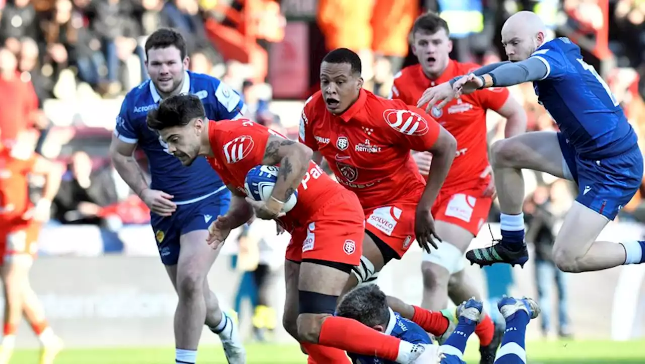
[[[539,102],[560,132],[537,131],[493,144],[491,162],[502,210],[502,240],[466,254],[472,263],[524,265],[522,168],[577,182],[579,194],[555,238],[553,260],[562,271],[586,272],[645,262],[645,242],[595,241],[640,187],[643,157],[619,102],[568,38],[545,39],[532,12],[512,15],[502,27],[511,62],[480,70],[426,91],[419,104],[441,107],[461,94],[533,81]],[[452,86],[451,86],[452,84]]]

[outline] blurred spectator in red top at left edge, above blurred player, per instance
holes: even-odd
[[[28,75],[21,76],[14,53],[0,48],[0,129],[5,144],[12,144],[18,133],[33,128],[41,117],[38,97]]]

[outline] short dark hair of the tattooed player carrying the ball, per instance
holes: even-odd
[[[206,117],[204,105],[195,95],[176,95],[168,97],[159,108],[148,111],[148,128],[163,130],[174,126],[188,125],[190,120]]]

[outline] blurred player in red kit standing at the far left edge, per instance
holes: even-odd
[[[0,364],[11,359],[23,314],[41,342],[41,364],[53,363],[63,349],[63,341],[49,327],[43,305],[29,283],[41,225],[49,220],[63,175],[59,166],[34,153],[36,139],[35,133],[21,131],[11,148],[0,143],[0,279],[5,298]],[[35,206],[30,202],[30,175],[45,177],[43,196]]]

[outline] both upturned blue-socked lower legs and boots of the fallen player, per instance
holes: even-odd
[[[483,303],[471,298],[457,307],[457,327],[441,345],[441,364],[464,364],[466,342],[482,319]],[[526,363],[526,325],[540,314],[540,307],[531,298],[504,297],[497,303],[506,320],[506,332],[497,351],[495,364]]]

